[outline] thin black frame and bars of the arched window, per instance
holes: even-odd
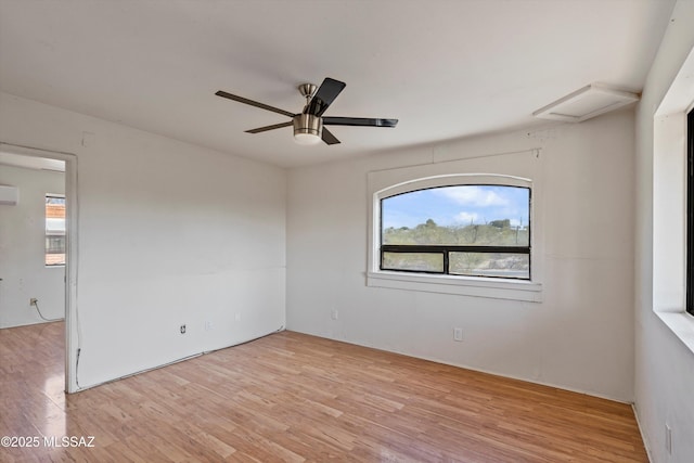
[[[426,179],[422,179],[426,180]],[[415,193],[417,191],[425,190],[434,190],[434,189],[445,189],[445,188],[454,188],[454,187],[506,187],[506,188],[520,188],[528,190],[528,245],[527,246],[489,246],[489,245],[452,245],[452,244],[383,244],[384,237],[384,229],[383,229],[383,202],[399,195]],[[465,182],[465,183],[452,183],[452,184],[442,184],[437,187],[429,188],[420,188],[412,189],[410,191],[398,192],[390,195],[382,195],[378,197],[378,229],[380,229],[380,241],[378,241],[378,269],[382,271],[393,271],[393,272],[406,272],[406,273],[427,273],[427,274],[439,274],[439,275],[451,275],[451,276],[470,276],[470,278],[489,278],[494,280],[520,280],[520,281],[531,281],[532,280],[532,188],[530,185],[518,185],[518,184],[504,184],[501,182],[494,183],[475,183],[475,182]],[[410,270],[410,269],[391,269],[384,267],[384,254],[385,253],[417,253],[417,254],[440,254],[442,255],[442,270]],[[475,274],[464,274],[464,273],[451,273],[450,272],[450,253],[475,253],[475,254],[525,254],[528,256],[528,278],[522,276],[493,276],[493,275],[475,275]]]

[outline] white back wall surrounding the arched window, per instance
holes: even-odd
[[[627,110],[291,170],[287,327],[633,400],[633,120]],[[369,171],[535,147],[542,303],[367,287]]]

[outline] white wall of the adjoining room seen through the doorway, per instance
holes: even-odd
[[[65,193],[62,172],[0,165],[0,184],[17,187],[16,206],[0,205],[0,329],[65,316],[64,267],[46,267],[46,194]]]

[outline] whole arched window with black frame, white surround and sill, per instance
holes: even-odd
[[[532,149],[369,172],[367,285],[541,301],[542,171]]]

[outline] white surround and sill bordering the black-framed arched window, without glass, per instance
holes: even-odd
[[[540,152],[534,149],[369,172],[367,286],[541,303],[543,298],[542,259],[537,258],[542,255],[543,248],[540,205],[542,187],[541,181],[538,181],[541,166],[539,159]],[[493,164],[493,170],[498,172],[484,173],[492,170],[489,168],[490,164]],[[466,173],[470,171],[476,173]],[[530,221],[535,223],[530,236],[530,258],[532,259],[530,280],[390,271],[380,268],[380,200],[408,191],[455,184],[530,188]]]

